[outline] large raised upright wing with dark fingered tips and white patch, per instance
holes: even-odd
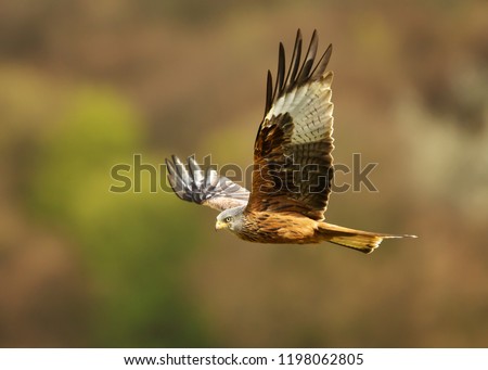
[[[254,146],[253,188],[246,212],[293,212],[323,219],[333,177],[332,44],[314,63],[317,31],[301,62],[298,29],[285,75],[280,43],[277,82],[268,71],[265,118]]]

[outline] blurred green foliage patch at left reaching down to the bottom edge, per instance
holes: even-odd
[[[141,148],[136,112],[113,91],[95,88],[76,91],[63,111],[39,148],[26,195],[37,217],[78,240],[87,272],[98,282],[91,345],[207,343],[179,277],[196,242],[184,214],[147,189],[108,192],[110,168],[130,162]]]

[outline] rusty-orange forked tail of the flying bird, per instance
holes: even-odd
[[[380,246],[384,239],[416,238],[416,235],[395,235],[344,228],[342,226],[320,222],[319,232],[323,240],[347,246],[362,253],[371,253]]]

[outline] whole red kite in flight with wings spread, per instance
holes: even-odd
[[[251,192],[194,157],[187,166],[166,160],[169,183],[183,201],[220,210],[216,229],[228,229],[257,243],[331,242],[363,253],[384,239],[415,238],[368,232],[324,221],[334,176],[331,102],[333,73],[325,71],[332,44],[316,63],[317,30],[303,58],[298,29],[288,67],[280,42],[278,75],[268,71],[265,117],[254,145]]]

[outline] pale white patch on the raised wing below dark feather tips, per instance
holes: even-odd
[[[330,138],[332,142],[333,111],[332,98],[333,73],[326,73],[319,80],[306,84],[280,97],[265,117],[265,126],[273,116],[288,113],[294,122],[292,143],[310,143]]]

